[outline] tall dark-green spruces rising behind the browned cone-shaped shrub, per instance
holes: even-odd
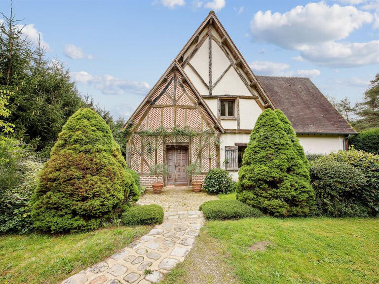
[[[67,119],[82,106],[69,71],[45,59],[45,48],[23,34],[23,25],[2,15],[0,24],[0,89],[9,95],[8,122],[16,138],[33,143],[37,150],[52,145]]]

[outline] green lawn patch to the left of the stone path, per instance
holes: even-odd
[[[126,247],[150,228],[113,227],[60,236],[0,236],[0,283],[57,283]]]

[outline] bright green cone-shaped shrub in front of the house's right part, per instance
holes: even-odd
[[[274,216],[306,215],[314,204],[308,165],[287,132],[273,110],[259,116],[238,172],[236,198]]]

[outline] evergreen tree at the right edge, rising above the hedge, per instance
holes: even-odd
[[[379,73],[371,81],[371,87],[364,93],[363,102],[357,104],[360,117],[353,123],[355,129],[362,131],[379,127]]]

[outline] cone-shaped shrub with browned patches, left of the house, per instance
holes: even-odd
[[[135,187],[107,123],[80,108],[63,126],[40,172],[32,218],[37,229],[91,230],[110,217]],[[135,190],[132,190],[134,194]]]

